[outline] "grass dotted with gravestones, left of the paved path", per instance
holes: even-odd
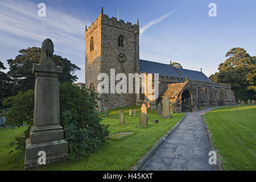
[[[119,108],[120,109],[120,108]],[[43,170],[129,170],[135,166],[143,155],[154,144],[176,125],[185,115],[183,113],[172,114],[171,119],[160,119],[156,110],[148,110],[148,127],[137,127],[141,109],[138,106],[122,107],[125,110],[125,125],[119,125],[119,109],[109,110],[109,117],[104,118],[102,123],[109,125],[110,135],[122,131],[134,133],[121,139],[108,139],[107,142],[96,152],[84,156],[77,161],[69,160],[60,164],[52,164],[41,168]],[[129,109],[137,109],[136,117],[129,117]],[[159,123],[154,123],[159,119]],[[0,170],[23,170],[24,154],[11,150],[9,143],[17,134],[26,128],[0,129]]]

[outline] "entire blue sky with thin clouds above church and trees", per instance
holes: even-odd
[[[38,16],[38,4],[46,3],[46,17]],[[209,3],[216,3],[217,16],[210,17]],[[136,23],[140,35],[140,59],[168,64],[177,61],[185,69],[210,76],[225,53],[242,47],[256,56],[256,1],[180,0],[180,1],[0,1],[0,60],[14,59],[18,51],[40,47],[50,38],[55,54],[66,57],[81,68],[77,82],[85,82],[84,28],[100,14]],[[155,24],[154,24],[155,23]],[[151,25],[151,26],[148,26]]]

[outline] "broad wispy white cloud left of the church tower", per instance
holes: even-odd
[[[31,1],[0,1],[0,48],[41,46],[46,38],[57,54],[84,68],[84,29],[89,20],[46,7],[46,17],[38,16],[38,5]],[[19,45],[17,45],[19,44]],[[80,75],[80,74],[79,74]],[[84,77],[84,71],[81,73]],[[81,79],[81,81],[84,78]]]

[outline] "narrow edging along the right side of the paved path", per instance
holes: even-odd
[[[205,113],[206,114],[206,113]],[[214,167],[216,168],[216,171],[224,171],[224,167],[223,167],[223,164],[221,162],[221,156],[220,154],[218,154],[218,151],[216,150],[216,148],[214,147],[214,144],[213,144],[213,139],[212,139],[212,135],[210,134],[210,130],[209,130],[209,127],[207,125],[207,122],[204,118],[204,115],[202,115],[202,118],[203,118],[203,121],[204,121],[204,125],[205,125],[205,130],[207,131],[207,136],[208,136],[208,141],[209,141],[209,144],[210,144],[210,150],[211,151],[215,151],[216,154],[217,154],[217,164],[214,164]]]

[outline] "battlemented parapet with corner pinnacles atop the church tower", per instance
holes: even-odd
[[[99,24],[108,24],[109,26],[122,28],[123,30],[137,32],[139,34],[139,20],[137,19],[137,24],[131,24],[130,22],[126,22],[122,19],[117,20],[117,18],[112,17],[109,18],[108,15],[103,14],[103,7],[101,7],[101,14],[98,18],[91,24],[91,26],[87,29],[85,28],[86,35],[89,35],[91,31],[95,30]]]

